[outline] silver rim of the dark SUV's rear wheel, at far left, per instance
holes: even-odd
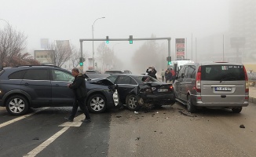
[[[20,113],[24,111],[25,102],[20,98],[14,98],[13,100],[9,101],[9,110],[13,113]]]

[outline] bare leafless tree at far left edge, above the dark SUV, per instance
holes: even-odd
[[[23,32],[9,25],[0,30],[0,66],[16,65],[12,61],[25,49],[26,40],[27,36]]]

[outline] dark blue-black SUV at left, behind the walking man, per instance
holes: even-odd
[[[72,106],[75,96],[68,83],[70,71],[56,66],[18,66],[0,72],[0,106],[12,115],[29,108]],[[118,104],[115,85],[107,79],[86,81],[86,104],[92,112],[103,112]]]

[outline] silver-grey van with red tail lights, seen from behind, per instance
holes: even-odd
[[[248,106],[249,86],[243,64],[210,62],[185,64],[174,82],[176,100],[196,107],[231,108],[240,113]]]

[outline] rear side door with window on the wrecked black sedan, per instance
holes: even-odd
[[[137,82],[130,76],[119,75],[119,77],[115,79],[115,84],[118,85],[119,99],[123,103],[126,103],[128,94],[137,94]]]

